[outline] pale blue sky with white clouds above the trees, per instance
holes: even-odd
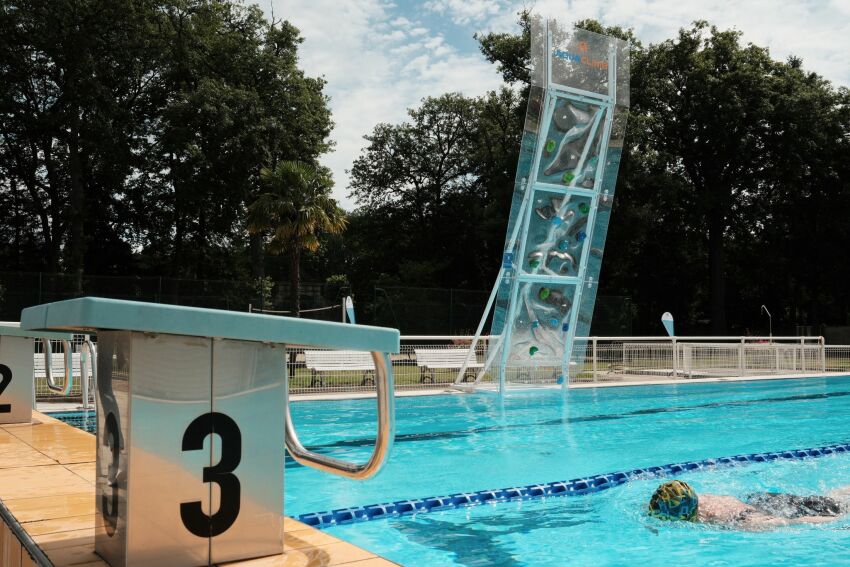
[[[775,59],[803,59],[804,68],[850,86],[850,0],[256,0],[268,15],[295,24],[304,37],[300,65],[327,81],[336,126],[334,196],[348,210],[347,170],[376,124],[396,124],[427,96],[476,96],[501,79],[473,38],[516,32],[523,7],[562,21],[594,18],[633,28],[644,43],[674,37],[698,19],[734,28]]]

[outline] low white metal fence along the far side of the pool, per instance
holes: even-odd
[[[74,343],[74,389],[70,400],[81,401],[79,346]],[[404,336],[401,352],[393,354],[396,390],[446,389],[454,384],[472,342],[469,336]],[[487,354],[488,337],[483,337],[470,360],[477,365],[466,379],[475,379]],[[40,344],[37,348],[40,351]],[[61,345],[54,344],[54,369],[62,376]],[[445,355],[439,351],[444,350]],[[373,391],[371,368],[330,364],[332,354],[316,356],[317,349],[287,348],[289,388],[294,394]],[[417,356],[418,351],[418,356]],[[307,352],[312,353],[308,357]],[[333,351],[330,351],[333,352]],[[352,354],[339,356],[351,359]],[[35,391],[39,401],[57,400],[47,389],[43,355],[36,355]],[[308,360],[309,359],[309,360]],[[351,359],[353,360],[353,359]],[[358,359],[359,360],[359,359]],[[332,362],[332,361],[330,361]],[[821,337],[587,337],[577,339],[571,382],[689,380],[708,377],[764,376],[779,374],[850,374],[850,346],[826,346]],[[506,381],[524,385],[555,384],[561,374],[556,366],[509,368]],[[481,382],[494,380],[486,373]],[[90,389],[90,391],[93,389]],[[94,392],[91,392],[93,398]],[[90,400],[91,401],[91,400]]]

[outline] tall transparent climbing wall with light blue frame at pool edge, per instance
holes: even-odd
[[[531,88],[483,376],[558,381],[583,359],[627,109],[624,41],[531,22]],[[577,353],[578,357],[573,357]],[[457,383],[463,377],[459,374]]]

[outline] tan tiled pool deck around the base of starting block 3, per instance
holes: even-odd
[[[94,552],[95,437],[39,412],[0,425],[0,501],[56,567],[108,567]],[[281,555],[227,567],[389,567],[374,553],[283,517]],[[0,566],[37,563],[0,519]]]

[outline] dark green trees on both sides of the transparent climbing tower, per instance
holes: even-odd
[[[633,298],[636,330],[657,333],[667,310],[686,332],[755,330],[762,303],[782,306],[774,313],[787,332],[850,319],[850,273],[830,260],[850,242],[841,220],[850,214],[847,90],[705,22],[648,47],[630,29],[575,26],[632,45],[601,292]],[[362,206],[349,231],[356,285],[375,274],[411,285],[492,284],[525,114],[529,32],[523,11],[517,33],[476,36],[518,95],[428,98],[409,122],[367,136],[352,170]]]

